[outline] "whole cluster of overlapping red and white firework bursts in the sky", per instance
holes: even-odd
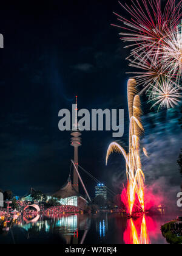
[[[182,32],[181,7],[182,0],[176,5],[175,0],[167,0],[164,7],[161,0],[131,0],[132,4],[120,5],[131,16],[127,20],[115,13],[124,29],[121,40],[129,43],[126,48],[132,48],[129,66],[141,69],[132,72],[137,86],[143,86],[140,95],[146,91],[149,100],[156,101],[153,106],[174,107],[179,102],[180,94],[174,87],[181,87],[182,77]],[[174,85],[161,81],[173,81]],[[172,83],[172,82],[171,82]]]

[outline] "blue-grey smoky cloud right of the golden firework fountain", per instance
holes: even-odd
[[[170,182],[180,187],[177,159],[180,154],[182,130],[178,124],[179,116],[177,110],[170,109],[166,113],[148,114],[143,118],[146,133],[141,144],[149,154],[149,158],[144,155],[142,157],[147,183],[167,177]],[[151,119],[155,126],[153,128]]]

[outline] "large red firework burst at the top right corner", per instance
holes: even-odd
[[[168,37],[169,33],[175,29],[180,23],[182,14],[180,13],[182,1],[175,5],[175,0],[168,0],[166,2],[164,11],[161,10],[161,0],[138,0],[128,4],[121,4],[126,12],[132,17],[127,20],[118,13],[118,21],[121,21],[124,26],[113,25],[121,27],[127,32],[121,32],[121,40],[133,42],[129,47],[135,47],[131,55],[153,55],[156,46],[160,47],[163,44],[164,38]]]

